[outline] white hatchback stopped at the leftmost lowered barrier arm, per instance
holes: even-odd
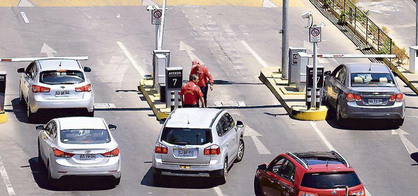
[[[36,60],[26,69],[17,69],[22,73],[19,98],[27,105],[29,122],[46,109],[82,109],[94,116],[94,94],[85,74],[90,71],[72,59]]]

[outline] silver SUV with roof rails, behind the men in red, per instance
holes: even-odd
[[[153,178],[215,177],[220,184],[228,168],[244,156],[244,123],[223,109],[178,108],[160,131],[152,156]]]

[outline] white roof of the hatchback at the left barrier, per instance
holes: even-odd
[[[37,60],[41,70],[57,70],[57,69],[69,69],[69,70],[81,70],[79,62],[72,59],[43,59]],[[61,65],[61,66],[60,66]]]

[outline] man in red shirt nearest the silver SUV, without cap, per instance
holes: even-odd
[[[196,74],[191,74],[189,82],[181,87],[180,101],[183,107],[199,107],[199,100],[202,102],[202,107],[206,107],[203,103],[203,94],[197,83],[199,77]],[[183,95],[185,98],[183,99]]]

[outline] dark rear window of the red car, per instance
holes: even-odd
[[[301,186],[318,189],[331,189],[334,186],[357,186],[361,184],[354,172],[338,173],[306,173],[303,175]]]

